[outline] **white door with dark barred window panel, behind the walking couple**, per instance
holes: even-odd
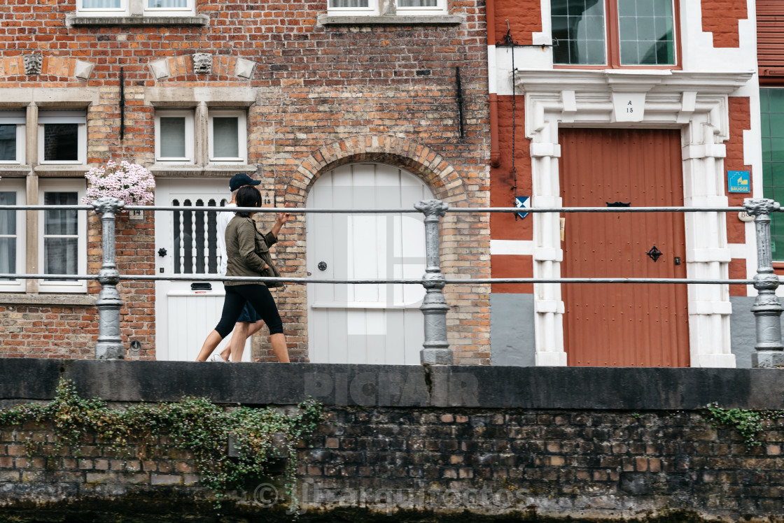
[[[156,180],[155,205],[223,207],[230,201],[229,179]],[[155,271],[158,276],[217,274],[215,211],[155,212]],[[194,361],[223,309],[223,283],[158,281],[155,283],[155,357]],[[224,339],[216,351],[228,341]],[[242,361],[250,361],[250,341]]]

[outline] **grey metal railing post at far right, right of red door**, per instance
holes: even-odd
[[[779,211],[779,204],[773,200],[746,200],[746,212],[754,217],[757,227],[757,274],[754,288],[757,299],[751,312],[757,325],[756,352],[751,355],[754,367],[784,366],[784,345],[782,345],[781,314],[782,304],[776,296],[779,276],[773,272],[771,255],[771,212]]]

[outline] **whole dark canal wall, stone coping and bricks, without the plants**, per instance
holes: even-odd
[[[114,406],[198,396],[325,417],[299,447],[299,521],[784,521],[784,417],[747,445],[705,406],[784,409],[773,369],[350,366],[0,359],[0,408],[58,382]],[[0,427],[0,521],[290,521],[280,478],[216,508],[162,439],[56,456],[43,424]],[[280,467],[285,466],[280,464]],[[71,518],[71,519],[68,519]]]

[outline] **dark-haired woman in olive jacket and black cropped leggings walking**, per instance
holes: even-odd
[[[237,192],[237,206],[260,207],[261,194],[259,190],[252,186],[241,187]],[[256,230],[256,222],[253,222],[251,218],[254,214],[252,212],[238,212],[234,218],[231,218],[226,228],[226,254],[228,257],[226,276],[261,276],[261,272],[267,267],[272,269],[274,276],[280,276],[278,269],[272,265],[270,246],[278,241],[278,233],[285,222],[289,220],[289,213],[279,213],[275,225],[266,235]],[[237,322],[242,308],[245,307],[245,302],[249,301],[270,329],[272,352],[278,357],[279,362],[289,362],[289,351],[286,348],[281,315],[278,313],[278,305],[275,305],[274,298],[267,288],[280,285],[275,283],[265,285],[262,282],[224,282],[226,298],[223,301],[220,322],[215,330],[207,336],[196,361],[203,362],[209,358],[220,341],[234,328],[234,323]]]

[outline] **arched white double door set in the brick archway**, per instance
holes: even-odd
[[[412,208],[431,198],[411,173],[352,164],[322,175],[307,207]],[[425,272],[423,216],[308,214],[307,270],[326,279],[419,279]],[[424,295],[421,285],[308,284],[310,361],[418,365]]]

